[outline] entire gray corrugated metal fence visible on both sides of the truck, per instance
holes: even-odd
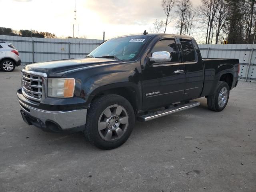
[[[0,41],[2,40],[16,46],[20,52],[22,64],[84,57],[103,41],[0,35]],[[247,81],[256,82],[256,44],[199,45],[199,48],[204,58],[238,58],[240,61],[240,80],[246,80],[247,77]]]

